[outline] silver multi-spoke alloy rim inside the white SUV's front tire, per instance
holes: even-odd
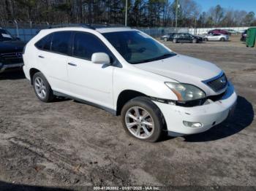
[[[148,139],[154,133],[154,120],[139,106],[133,106],[125,114],[125,124],[130,133],[138,139]]]

